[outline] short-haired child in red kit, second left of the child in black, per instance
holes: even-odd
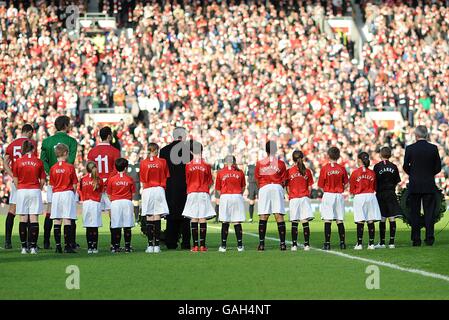
[[[340,158],[340,150],[331,147],[327,151],[329,163],[320,171],[318,187],[323,189],[324,194],[321,200],[321,219],[324,220],[324,246],[323,250],[330,250],[332,221],[337,222],[338,234],[340,236],[340,249],[346,249],[345,241],[345,200],[343,192],[349,182],[346,169],[337,163]]]

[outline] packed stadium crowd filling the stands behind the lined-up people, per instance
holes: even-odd
[[[376,159],[385,144],[399,164],[413,126],[422,123],[440,146],[447,194],[449,9],[443,1],[363,1],[369,36],[359,69],[351,47],[319,27],[324,16],[350,14],[349,2],[135,1],[128,10],[134,32],[103,38],[82,30],[74,37],[65,28],[62,8],[85,10],[86,1],[11,2],[0,7],[2,151],[24,123],[33,124],[40,143],[53,134],[55,117],[68,114],[81,168],[99,130],[84,124],[85,113],[138,106],[135,123],[114,128],[126,157],[144,156],[148,141],[164,145],[184,126],[210,163],[229,148],[241,166],[254,163],[274,138],[286,160],[304,151],[316,178],[331,144],[348,168],[359,151]],[[368,109],[400,111],[404,127],[378,128],[364,116]],[[0,179],[6,201],[11,181]]]

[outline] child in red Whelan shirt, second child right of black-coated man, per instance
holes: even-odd
[[[245,190],[245,174],[237,167],[235,157],[228,155],[224,161],[224,168],[218,171],[215,190],[220,194],[219,220],[221,225],[220,252],[226,252],[226,242],[229,223],[234,223],[237,237],[237,250],[244,251],[242,222],[245,221],[245,206],[243,191]]]

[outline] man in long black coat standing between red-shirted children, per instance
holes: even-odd
[[[160,151],[160,157],[167,161],[170,178],[167,179],[165,196],[170,214],[167,216],[165,244],[167,249],[176,249],[182,235],[181,248],[190,250],[190,220],[182,216],[187,200],[186,164],[192,160],[190,145],[186,142],[184,128],[175,128],[174,141]]]

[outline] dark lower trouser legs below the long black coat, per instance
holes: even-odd
[[[181,215],[169,214],[165,230],[167,249],[176,249],[180,236],[182,236],[181,248],[190,249],[190,219]]]

